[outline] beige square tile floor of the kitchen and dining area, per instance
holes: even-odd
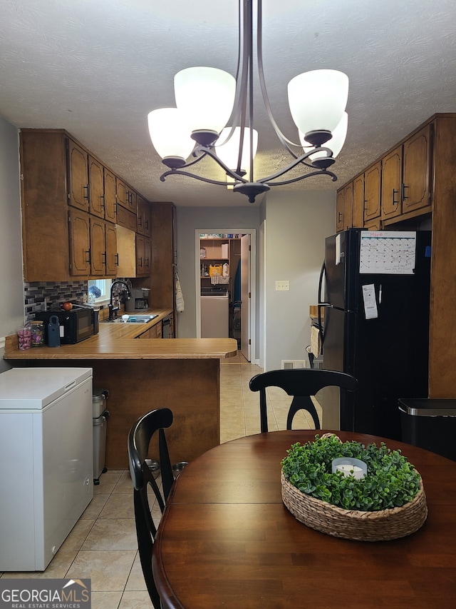
[[[249,380],[261,368],[241,354],[221,366],[220,441],[259,433],[259,396]],[[289,398],[268,391],[269,430],[285,428]],[[317,406],[318,410],[318,406]],[[321,416],[321,411],[319,412]],[[313,427],[304,414],[296,426]],[[100,477],[93,500],[43,573],[2,573],[2,578],[90,578],[93,609],[150,609],[138,557],[133,493],[128,471]]]

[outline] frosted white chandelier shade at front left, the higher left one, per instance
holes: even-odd
[[[175,75],[174,93],[177,109],[193,139],[202,145],[217,140],[232,114],[236,79],[217,68],[187,68]],[[204,133],[212,135],[199,137]]]

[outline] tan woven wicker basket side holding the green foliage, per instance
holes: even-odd
[[[334,537],[360,541],[387,541],[415,533],[427,517],[423,481],[409,503],[376,512],[344,510],[301,493],[281,473],[282,500],[301,523]]]

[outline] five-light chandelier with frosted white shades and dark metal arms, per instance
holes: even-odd
[[[264,81],[261,0],[257,0],[257,69],[261,97],[269,121],[292,160],[276,173],[257,178],[254,158],[258,133],[254,129],[253,0],[239,0],[239,49],[236,78],[217,68],[187,68],[175,75],[175,108],[153,110],[147,116],[150,138],[169,171],[160,176],[188,176],[232,188],[250,203],[272,186],[284,186],[311,176],[337,177],[328,171],[347,133],[348,77],[336,70],[314,70],[295,76],[288,85],[291,116],[298,129],[294,144],[279,129]],[[231,121],[230,121],[231,118]],[[232,126],[227,126],[228,122]],[[324,144],[328,144],[324,146]],[[190,160],[187,160],[190,157]],[[187,171],[203,158],[212,158],[227,174],[214,180]],[[306,173],[282,178],[298,167]],[[296,172],[294,172],[296,173]],[[281,179],[282,178],[282,179]]]

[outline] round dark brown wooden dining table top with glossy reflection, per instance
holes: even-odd
[[[308,528],[281,499],[291,444],[325,431],[275,431],[221,444],[172,487],[152,569],[164,608],[456,607],[456,462],[409,444],[337,431],[342,441],[384,441],[423,478],[428,515],[405,538],[368,542]]]

